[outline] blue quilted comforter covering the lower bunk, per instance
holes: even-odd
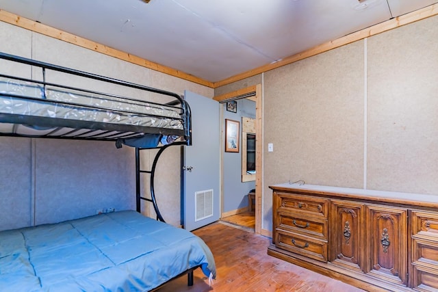
[[[149,291],[213,255],[196,235],[136,211],[0,232],[0,291]]]

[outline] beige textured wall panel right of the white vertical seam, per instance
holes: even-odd
[[[438,17],[368,40],[368,188],[438,194]]]

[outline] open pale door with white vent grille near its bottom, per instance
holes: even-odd
[[[183,146],[181,219],[194,230],[220,217],[220,105],[193,92],[184,95],[192,109],[192,146]]]

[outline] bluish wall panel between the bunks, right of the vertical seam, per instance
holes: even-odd
[[[112,142],[37,139],[36,224],[135,209],[133,150]]]

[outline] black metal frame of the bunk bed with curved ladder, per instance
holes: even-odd
[[[157,166],[157,162],[159,160],[159,157],[162,155],[164,150],[166,150],[170,146],[190,146],[192,145],[192,124],[191,124],[191,112],[190,112],[190,106],[188,103],[181,97],[179,94],[168,92],[166,90],[159,90],[157,88],[151,88],[149,86],[144,86],[136,83],[130,83],[127,81],[121,81],[119,79],[113,79],[110,77],[104,77],[101,75],[92,74],[89,72],[84,72],[81,70],[75,70],[72,68],[66,68],[62,66],[57,66],[45,62],[36,61],[33,59],[27,59],[25,57],[20,57],[16,55],[10,55],[7,53],[1,53],[0,52],[0,60],[8,60],[10,62],[16,62],[17,64],[26,64],[31,66],[32,68],[40,68],[42,70],[42,80],[35,80],[35,79],[27,79],[23,77],[16,77],[11,75],[5,75],[1,74],[0,77],[5,78],[13,78],[18,79],[23,82],[32,82],[32,83],[38,83],[42,88],[44,88],[44,97],[43,98],[35,98],[32,96],[23,96],[19,94],[10,94],[10,93],[2,93],[0,91],[0,97],[10,97],[13,98],[21,98],[23,101],[38,101],[38,102],[47,102],[47,103],[58,103],[63,104],[66,106],[72,106],[72,107],[87,107],[88,109],[95,109],[95,110],[104,110],[104,111],[116,111],[116,112],[123,112],[120,109],[108,109],[108,108],[101,108],[96,107],[92,105],[77,105],[77,104],[69,104],[66,102],[61,101],[51,101],[45,96],[45,89],[47,86],[55,86],[57,88],[62,88],[65,90],[79,90],[81,92],[89,92],[90,94],[99,94],[103,96],[108,96],[109,98],[125,98],[127,102],[129,103],[138,103],[142,102],[136,98],[129,98],[125,96],[118,96],[114,94],[110,94],[107,92],[96,92],[92,90],[84,90],[83,88],[74,88],[66,85],[60,85],[55,83],[47,82],[46,80],[46,74],[47,71],[53,70],[56,72],[62,72],[67,75],[75,75],[80,77],[85,77],[88,79],[93,79],[96,81],[102,81],[105,83],[110,84],[116,84],[121,85],[126,88],[135,88],[137,90],[144,90],[146,92],[153,92],[155,94],[162,94],[164,96],[170,96],[173,100],[164,104],[154,103],[148,101],[149,104],[153,105],[165,105],[166,107],[170,107],[175,109],[176,111],[179,111],[181,114],[181,122],[183,124],[183,129],[168,129],[168,128],[159,128],[159,127],[145,127],[140,125],[131,125],[131,124],[114,124],[114,123],[105,123],[105,122],[94,122],[94,121],[84,121],[84,120],[69,120],[69,119],[63,119],[63,118],[51,118],[51,117],[42,117],[42,116],[28,116],[28,115],[20,115],[20,114],[8,114],[8,113],[2,113],[0,112],[0,123],[10,123],[10,124],[27,124],[27,125],[33,125],[38,127],[64,127],[64,128],[72,128],[72,129],[88,129],[88,137],[81,137],[80,135],[53,135],[53,133],[45,134],[45,135],[38,135],[38,136],[31,136],[31,137],[38,137],[38,138],[51,138],[51,139],[73,139],[73,140],[99,140],[99,141],[114,141],[120,140],[120,138],[125,137],[123,133],[127,133],[126,137],[142,137],[145,133],[146,134],[162,134],[162,135],[177,135],[179,136],[179,140],[177,142],[173,142],[172,144],[167,145],[159,145],[156,147],[148,147],[148,148],[141,148],[136,147],[136,211],[141,213],[141,201],[146,200],[153,204],[153,208],[155,210],[155,213],[157,215],[157,220],[165,222],[162,214],[159,211],[159,208],[157,206],[157,201],[155,199],[155,169]],[[123,114],[129,114],[129,112],[123,112]],[[133,114],[139,114],[139,113],[133,113]],[[146,115],[147,116],[147,115]],[[76,130],[71,131],[74,133]],[[101,137],[102,131],[105,133],[112,133],[114,131],[117,131],[117,135],[107,135],[105,137]],[[54,131],[55,132],[55,131]],[[96,132],[96,135],[93,135],[93,132]],[[132,133],[136,133],[133,135]],[[16,133],[1,133],[1,136],[16,136],[16,137],[23,137],[23,135],[18,135]],[[83,132],[81,133],[83,135]],[[100,137],[98,137],[98,135]],[[25,135],[24,137],[29,137]],[[157,149],[157,153],[155,154],[155,159],[153,161],[151,170],[142,170],[140,168],[140,153],[145,149]],[[141,174],[149,174],[151,176],[150,179],[150,193],[151,198],[146,198],[142,196],[141,194]],[[188,285],[192,286],[193,284],[193,271],[196,269],[196,267],[189,269],[188,271],[183,272],[183,274],[188,274]]]

